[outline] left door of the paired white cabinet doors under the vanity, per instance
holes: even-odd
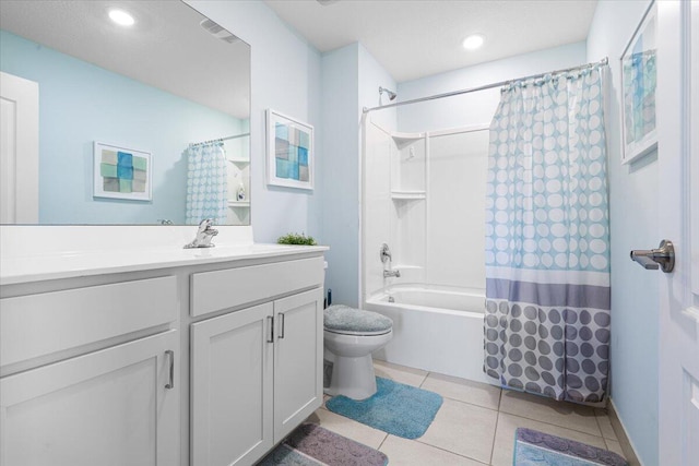
[[[191,464],[249,465],[272,442],[271,302],[191,325]]]

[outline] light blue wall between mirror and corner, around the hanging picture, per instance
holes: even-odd
[[[321,231],[324,154],[320,139],[320,53],[262,1],[187,3],[251,46],[251,193],[254,240],[275,242],[288,232],[306,232],[325,243]],[[268,187],[265,181],[265,109],[272,108],[315,127],[313,191]]]

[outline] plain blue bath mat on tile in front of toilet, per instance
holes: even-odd
[[[328,401],[325,407],[403,439],[423,437],[441,406],[441,396],[380,377],[376,384],[376,394],[367,399],[357,402],[340,395]]]

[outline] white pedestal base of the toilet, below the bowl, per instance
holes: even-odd
[[[334,356],[330,396],[344,395],[352,399],[366,399],[376,393],[376,375],[371,354],[359,357]]]

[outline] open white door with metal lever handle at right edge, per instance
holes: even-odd
[[[659,273],[660,463],[699,462],[699,2],[660,1],[659,231],[675,243]]]

